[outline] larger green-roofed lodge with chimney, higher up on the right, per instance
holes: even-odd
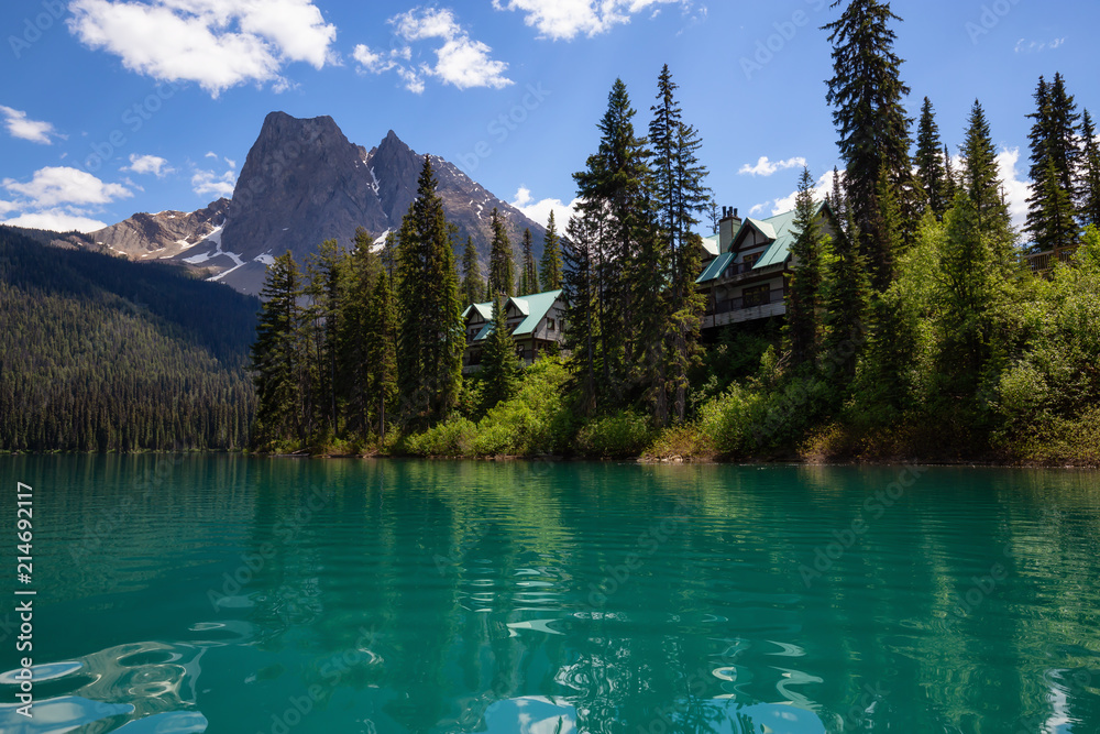
[[[822,233],[835,237],[828,204],[817,205],[815,217]],[[737,209],[723,207],[718,233],[703,239],[703,274],[695,281],[706,296],[704,335],[787,314],[791,272],[798,267],[791,245],[801,233],[794,220],[794,211],[741,220]]]

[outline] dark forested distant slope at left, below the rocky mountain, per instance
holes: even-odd
[[[0,227],[0,450],[246,446],[258,306]]]

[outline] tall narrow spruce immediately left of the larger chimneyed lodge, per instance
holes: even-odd
[[[683,420],[688,401],[688,373],[697,359],[700,324],[705,303],[695,287],[702,270],[702,243],[694,233],[713,204],[706,187],[706,167],[698,161],[698,132],[683,121],[678,85],[668,65],[657,81],[657,103],[651,108],[649,144],[652,160],[650,190],[658,228],[657,241],[663,250],[661,265],[668,286],[639,293],[639,313],[656,307],[656,298],[669,303],[662,325],[668,341],[668,368],[662,370],[672,385],[672,415]],[[662,293],[664,292],[664,293]],[[662,423],[660,419],[659,424]]]

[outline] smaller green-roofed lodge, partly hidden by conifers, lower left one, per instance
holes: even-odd
[[[560,348],[565,314],[560,289],[514,296],[505,303],[505,311],[516,355],[525,366],[532,364],[540,353]],[[493,331],[493,302],[471,304],[463,311],[462,320],[466,329],[462,373],[471,374],[481,370],[482,348]]]

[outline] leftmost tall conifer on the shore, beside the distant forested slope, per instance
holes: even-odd
[[[268,266],[260,295],[263,307],[252,347],[256,386],[253,437],[258,448],[273,448],[305,438],[298,402],[298,375],[304,359],[298,343],[301,275],[289,252]]]

